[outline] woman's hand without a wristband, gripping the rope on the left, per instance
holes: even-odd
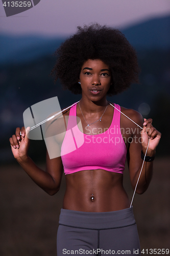
[[[26,130],[24,126],[21,129],[17,127],[15,135],[12,135],[12,138],[9,139],[11,143],[11,150],[15,159],[23,159],[28,157],[28,148],[30,145],[30,140],[27,137],[27,134],[29,131],[30,127],[27,127]]]

